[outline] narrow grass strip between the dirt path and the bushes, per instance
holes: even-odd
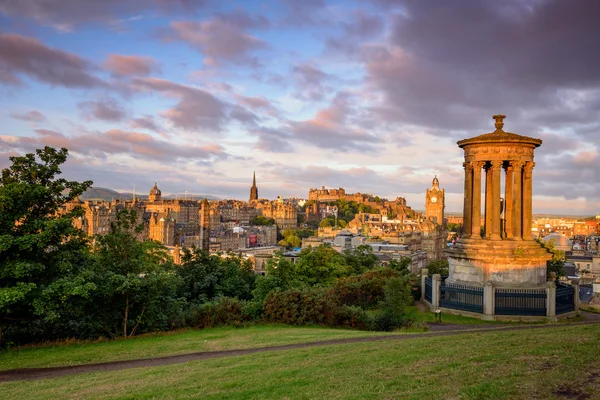
[[[376,336],[365,332],[320,327],[254,325],[152,334],[105,342],[56,344],[0,352],[0,370],[79,365],[138,358],[163,357],[199,351],[247,349],[331,339]]]

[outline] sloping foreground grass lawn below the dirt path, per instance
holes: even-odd
[[[598,354],[600,326],[564,325],[9,382],[0,393],[3,399],[587,399],[600,393]]]

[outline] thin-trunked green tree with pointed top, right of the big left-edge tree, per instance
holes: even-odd
[[[96,315],[112,337],[142,330],[167,329],[181,310],[176,297],[181,278],[166,247],[140,242],[133,232],[135,210],[122,210],[111,232],[94,238]]]

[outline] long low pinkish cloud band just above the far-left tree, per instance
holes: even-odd
[[[156,139],[147,133],[120,129],[77,136],[66,136],[49,129],[36,129],[35,133],[36,137],[0,137],[0,150],[33,151],[48,145],[66,147],[74,153],[101,159],[109,155],[127,155],[162,163],[177,160],[210,161],[227,157],[225,150],[218,145],[182,145]]]

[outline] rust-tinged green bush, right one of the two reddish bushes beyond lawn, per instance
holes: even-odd
[[[338,279],[331,289],[341,304],[375,308],[384,299],[384,289],[399,273],[389,268],[367,271],[362,275]]]

